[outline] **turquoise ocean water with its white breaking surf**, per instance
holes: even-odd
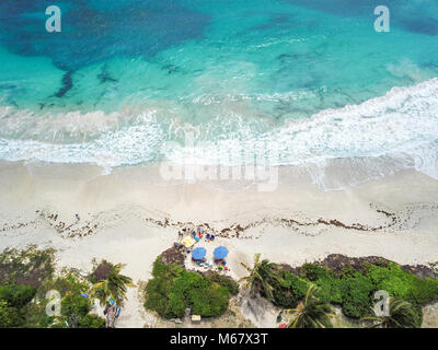
[[[437,77],[437,0],[2,0],[0,159],[237,164],[244,144],[438,178]]]

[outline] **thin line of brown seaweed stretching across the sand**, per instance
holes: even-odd
[[[208,222],[193,222],[193,221],[173,221],[165,213],[155,213],[162,219],[153,219],[151,217],[145,219],[147,210],[142,208],[118,208],[118,210],[111,210],[106,212],[100,212],[89,220],[78,220],[70,223],[60,220],[57,213],[48,210],[36,210],[36,218],[27,222],[18,222],[14,224],[3,223],[0,224],[0,232],[15,231],[30,225],[37,225],[38,222],[49,225],[62,237],[84,237],[97,233],[107,228],[119,224],[123,220],[138,219],[143,221],[147,225],[159,226],[159,228],[174,228],[181,230],[183,228],[203,228],[207,232],[212,233],[220,237],[226,238],[240,238],[251,240],[257,238],[257,236],[251,236],[245,234],[246,231],[253,228],[263,226],[270,224],[273,226],[284,226],[291,229],[295,232],[307,235],[318,236],[322,232],[330,228],[341,228],[347,231],[356,231],[364,233],[372,232],[401,232],[406,229],[413,229],[417,226],[420,220],[425,217],[434,217],[437,214],[438,205],[436,203],[412,203],[405,206],[399,212],[391,212],[383,210],[380,206],[370,203],[370,209],[376,211],[381,217],[381,223],[371,225],[367,223],[353,222],[346,223],[338,219],[309,219],[300,213],[293,213],[291,217],[277,217],[266,218],[262,217],[258,220],[244,223],[232,223],[224,228],[221,226],[220,221],[215,223]],[[313,231],[312,231],[313,230]]]

